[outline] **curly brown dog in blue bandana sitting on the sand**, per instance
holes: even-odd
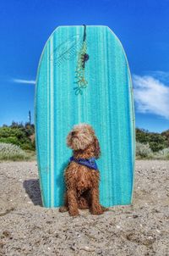
[[[99,203],[100,172],[95,159],[100,157],[100,145],[90,125],[74,125],[67,137],[68,147],[74,155],[64,172],[66,183],[65,203],[60,212],[68,211],[71,216],[79,209],[90,209],[91,214],[103,214],[108,210]]]

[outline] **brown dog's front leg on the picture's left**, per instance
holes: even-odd
[[[79,215],[76,191],[74,189],[68,189],[67,195],[68,195],[68,213],[71,216]]]

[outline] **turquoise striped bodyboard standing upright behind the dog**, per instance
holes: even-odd
[[[63,205],[63,171],[72,151],[74,125],[93,126],[101,146],[100,201],[106,207],[132,202],[135,127],[133,87],[126,54],[117,36],[101,25],[86,26],[90,58],[82,94],[76,69],[84,26],[59,26],[46,42],[35,85],[35,143],[44,207]]]

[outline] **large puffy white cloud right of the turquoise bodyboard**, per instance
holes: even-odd
[[[152,75],[133,75],[133,82],[138,112],[158,114],[169,120],[169,87]]]

